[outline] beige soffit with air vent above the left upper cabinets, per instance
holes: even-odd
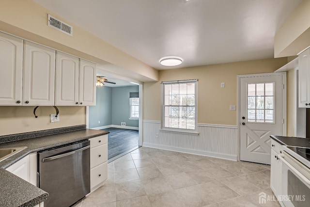
[[[0,0],[0,30],[56,48],[98,64],[107,62],[124,70],[111,71],[135,80],[158,80],[158,71],[31,0]],[[51,14],[73,26],[73,37],[47,26]],[[103,69],[104,66],[102,67]]]

